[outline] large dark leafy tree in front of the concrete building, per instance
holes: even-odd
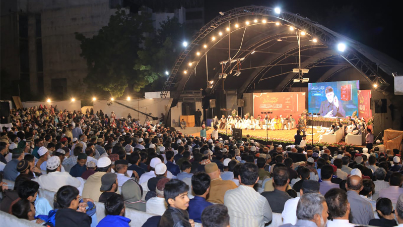
[[[172,38],[183,27],[176,19],[168,18],[155,34],[150,18],[149,14],[127,14],[122,9],[97,35],[87,38],[76,33],[81,42],[80,55],[87,61],[88,86],[121,97],[125,90],[140,91],[164,80],[163,73],[172,67],[177,55]]]

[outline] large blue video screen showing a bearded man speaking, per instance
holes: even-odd
[[[358,80],[309,83],[308,111],[324,118],[352,116],[358,109],[359,88]]]

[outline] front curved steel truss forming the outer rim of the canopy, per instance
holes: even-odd
[[[173,83],[177,72],[182,66],[183,61],[186,59],[186,56],[193,49],[194,46],[198,44],[201,39],[205,38],[208,34],[210,34],[214,29],[219,27],[220,25],[242,16],[266,16],[277,18],[278,20],[282,20],[284,22],[289,23],[290,25],[304,30],[310,35],[317,38],[321,43],[326,44],[327,46],[332,46],[338,41],[337,37],[333,34],[322,29],[317,22],[312,22],[308,18],[303,18],[299,15],[289,13],[289,12],[281,12],[280,15],[275,13],[274,8],[270,7],[262,7],[262,6],[247,6],[240,7],[224,13],[223,16],[217,16],[213,20],[211,20],[208,24],[206,24],[203,28],[201,28],[193,37],[192,42],[187,46],[185,50],[183,50],[178,58],[175,61],[175,64],[172,68],[171,74],[167,81],[165,81],[163,89],[161,91],[161,98],[165,98],[168,91],[170,90],[171,84]],[[346,54],[341,54],[343,58],[348,61],[354,68],[360,71],[360,73],[369,81],[373,82],[374,80],[384,83],[388,85],[388,83],[381,77],[378,76],[375,68],[375,64],[369,61],[365,56],[360,54],[357,50],[352,47],[348,48]],[[374,68],[375,66],[375,68]],[[180,89],[179,89],[180,90]]]

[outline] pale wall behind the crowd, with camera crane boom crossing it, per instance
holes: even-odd
[[[134,109],[140,110],[144,113],[152,113],[153,117],[161,117],[161,113],[165,113],[165,106],[169,103],[169,98],[154,98],[154,99],[132,99],[130,101],[127,100],[117,100],[118,102],[130,106]],[[147,108],[147,110],[146,110]],[[122,105],[119,105],[112,102],[111,105],[108,105],[106,100],[96,100],[94,101],[94,113],[102,109],[102,111],[110,116],[111,112],[114,111],[117,118],[127,118],[128,113],[130,113],[132,118],[140,119],[143,123],[146,120],[146,116],[141,113],[126,108]],[[152,120],[152,119],[150,119]]]

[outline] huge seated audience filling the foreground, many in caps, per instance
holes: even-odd
[[[372,147],[370,130],[355,150],[301,143],[301,129],[286,146],[194,137],[102,110],[11,116],[0,133],[0,209],[41,225],[129,226],[133,209],[153,214],[143,226],[265,226],[277,214],[285,227],[403,226],[402,152]],[[52,206],[39,189],[55,193]]]

